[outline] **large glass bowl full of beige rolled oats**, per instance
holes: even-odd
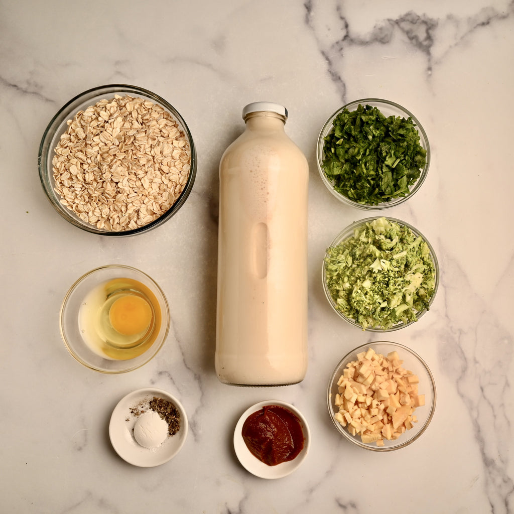
[[[113,84],[71,99],[48,124],[38,165],[53,208],[87,232],[149,231],[185,203],[196,150],[176,109],[146,89]]]

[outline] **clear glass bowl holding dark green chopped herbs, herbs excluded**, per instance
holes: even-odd
[[[395,116],[400,118],[412,118],[412,121],[415,123],[418,133],[419,133],[419,144],[426,150],[427,156],[426,156],[426,164],[421,169],[419,178],[416,180],[416,182],[409,187],[409,194],[403,197],[394,198],[390,201],[384,201],[381,204],[378,205],[369,205],[369,204],[360,204],[357,201],[354,201],[347,196],[339,193],[334,189],[334,183],[329,180],[324,171],[323,171],[323,159],[324,159],[324,138],[330,134],[334,129],[334,119],[343,111],[343,109],[348,109],[348,111],[355,111],[355,109],[358,107],[359,104],[362,105],[370,105],[371,107],[377,107],[380,112],[386,116]],[[377,211],[381,209],[387,209],[389,207],[394,207],[396,205],[399,205],[406,201],[408,198],[410,198],[416,191],[419,190],[423,182],[425,181],[425,178],[427,177],[428,169],[430,166],[430,145],[428,143],[427,134],[425,133],[425,130],[423,126],[419,123],[419,121],[415,118],[413,114],[411,114],[405,107],[402,107],[401,105],[398,105],[397,103],[390,102],[389,100],[380,100],[377,98],[364,98],[362,100],[356,100],[354,102],[347,103],[346,105],[343,105],[340,109],[338,109],[324,124],[323,128],[321,129],[320,135],[318,137],[318,143],[317,143],[317,151],[316,151],[316,161],[318,164],[318,171],[321,177],[321,180],[323,181],[324,185],[327,187],[328,191],[330,191],[336,198],[341,200],[343,203],[347,205],[351,205],[353,207],[357,207],[358,209],[364,209],[364,210],[371,210],[371,211]]]

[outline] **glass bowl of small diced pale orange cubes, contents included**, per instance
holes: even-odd
[[[426,362],[391,341],[354,348],[328,382],[329,415],[348,441],[372,451],[405,448],[423,434],[436,403]]]

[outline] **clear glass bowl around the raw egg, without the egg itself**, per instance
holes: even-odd
[[[160,326],[157,326],[153,333],[154,339],[151,346],[141,355],[126,360],[103,357],[99,352],[92,350],[84,341],[79,326],[79,312],[88,293],[100,284],[113,279],[131,279],[140,282],[153,293],[160,308]],[[88,271],[69,288],[61,305],[59,327],[68,352],[78,362],[102,373],[125,373],[140,368],[157,355],[168,337],[170,311],[163,291],[146,273],[131,266],[106,265]]]

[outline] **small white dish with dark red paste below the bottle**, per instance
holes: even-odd
[[[255,403],[235,426],[234,450],[239,462],[263,479],[280,479],[295,471],[305,460],[309,445],[306,419],[285,401]]]

